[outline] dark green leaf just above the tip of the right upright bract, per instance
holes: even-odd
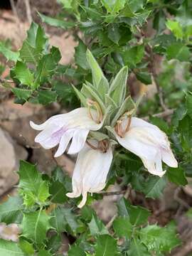
[[[125,50],[124,53],[122,53],[122,58],[125,65],[130,65],[131,67],[134,67],[136,64],[140,63],[143,57],[144,46],[142,45],[133,46],[132,48],[129,48],[128,50]]]

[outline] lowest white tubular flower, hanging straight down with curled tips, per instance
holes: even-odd
[[[105,188],[107,174],[111,164],[111,147],[103,153],[85,144],[78,154],[78,159],[73,171],[73,192],[67,193],[67,196],[77,198],[82,194],[82,201],[78,205],[79,208],[82,208],[87,201],[87,192],[97,193]]]

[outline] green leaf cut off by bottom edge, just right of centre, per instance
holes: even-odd
[[[117,241],[110,235],[100,235],[97,238],[95,256],[116,256]]]

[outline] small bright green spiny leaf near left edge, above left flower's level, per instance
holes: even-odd
[[[14,68],[14,73],[16,75],[16,78],[21,82],[22,85],[28,85],[29,87],[33,87],[33,74],[27,68],[25,63],[17,61]]]

